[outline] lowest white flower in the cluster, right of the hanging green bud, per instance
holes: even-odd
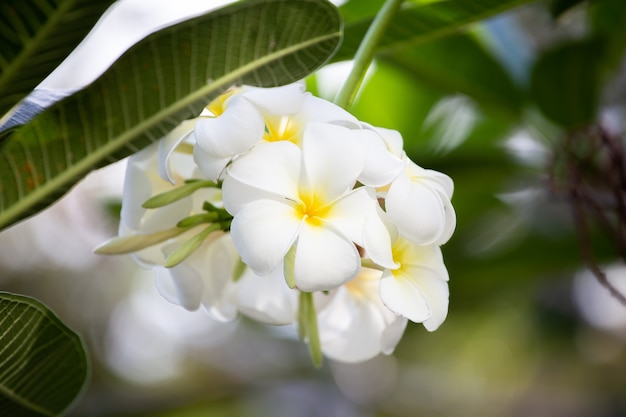
[[[381,271],[362,268],[354,279],[316,298],[329,298],[318,307],[318,326],[322,352],[330,359],[362,362],[393,353],[407,319],[383,304],[380,278]]]

